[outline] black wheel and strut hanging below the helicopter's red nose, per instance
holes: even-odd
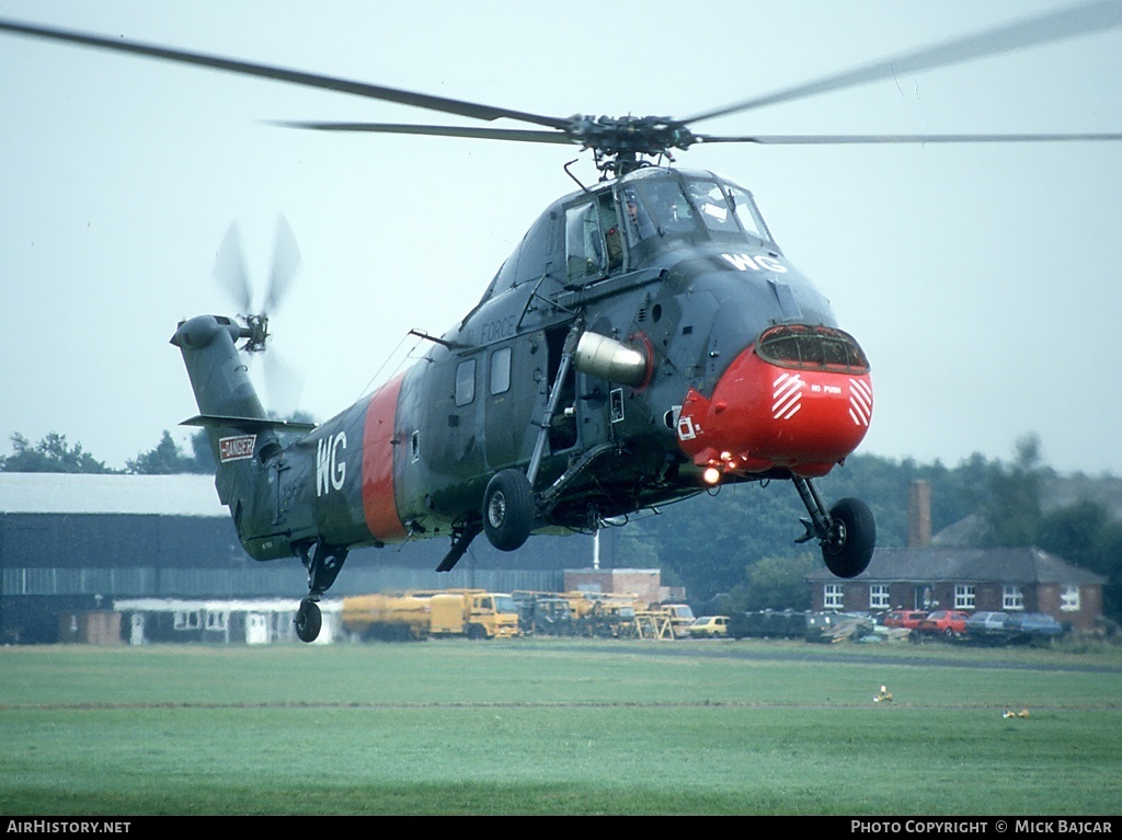
[[[838,578],[856,578],[864,572],[876,546],[876,520],[868,505],[861,499],[845,498],[827,513],[809,479],[794,478],[792,482],[810,514],[809,519],[801,520],[807,533],[795,542],[817,538],[826,567]]]

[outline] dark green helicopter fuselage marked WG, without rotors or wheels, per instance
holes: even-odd
[[[781,368],[755,357],[760,336],[784,324],[821,327],[843,345],[840,364]],[[634,351],[631,381],[578,360],[558,385],[572,332]],[[772,393],[758,418],[727,399],[708,405],[723,388],[747,394],[739,379],[724,378],[730,370],[743,378],[749,359],[769,371],[764,389],[776,371],[804,386],[793,417],[772,416]],[[808,385],[816,377],[836,381]],[[552,204],[478,305],[373,396],[284,449],[270,428],[249,443],[252,456],[245,427],[212,428],[212,439],[220,486],[223,471],[245,473],[238,498],[227,491],[223,501],[249,553],[266,560],[318,542],[451,536],[479,520],[491,477],[525,471],[540,436],[534,490],[564,480],[535,529],[587,529],[697,492],[709,469],[720,481],[824,474],[867,428],[867,379],[859,349],[787,261],[747,192],[709,173],[649,168]],[[847,408],[850,381],[865,386],[868,406],[857,421],[834,410],[847,432],[840,442],[803,452],[802,439],[784,440],[799,409],[812,414],[812,397]],[[558,407],[543,431],[554,389]],[[708,441],[725,418],[732,437]],[[771,435],[780,444],[771,450],[752,441],[769,424],[788,424]],[[231,440],[240,458],[226,454]]]

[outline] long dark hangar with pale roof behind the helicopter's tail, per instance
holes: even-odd
[[[562,552],[535,542],[517,553],[524,569],[480,539],[448,573],[434,571],[448,548],[442,539],[361,548],[329,594],[555,591],[585,541],[565,538]],[[296,559],[258,563],[245,553],[211,476],[0,472],[4,644],[57,641],[61,616],[109,610],[123,599],[298,599],[306,591]]]

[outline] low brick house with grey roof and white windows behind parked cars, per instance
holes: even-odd
[[[813,610],[1047,612],[1089,630],[1102,615],[1106,579],[1039,548],[926,546],[877,548],[852,580],[824,567],[807,581]]]

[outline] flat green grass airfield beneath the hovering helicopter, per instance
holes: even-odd
[[[9,647],[0,732],[7,814],[1114,814],[1122,654]]]

